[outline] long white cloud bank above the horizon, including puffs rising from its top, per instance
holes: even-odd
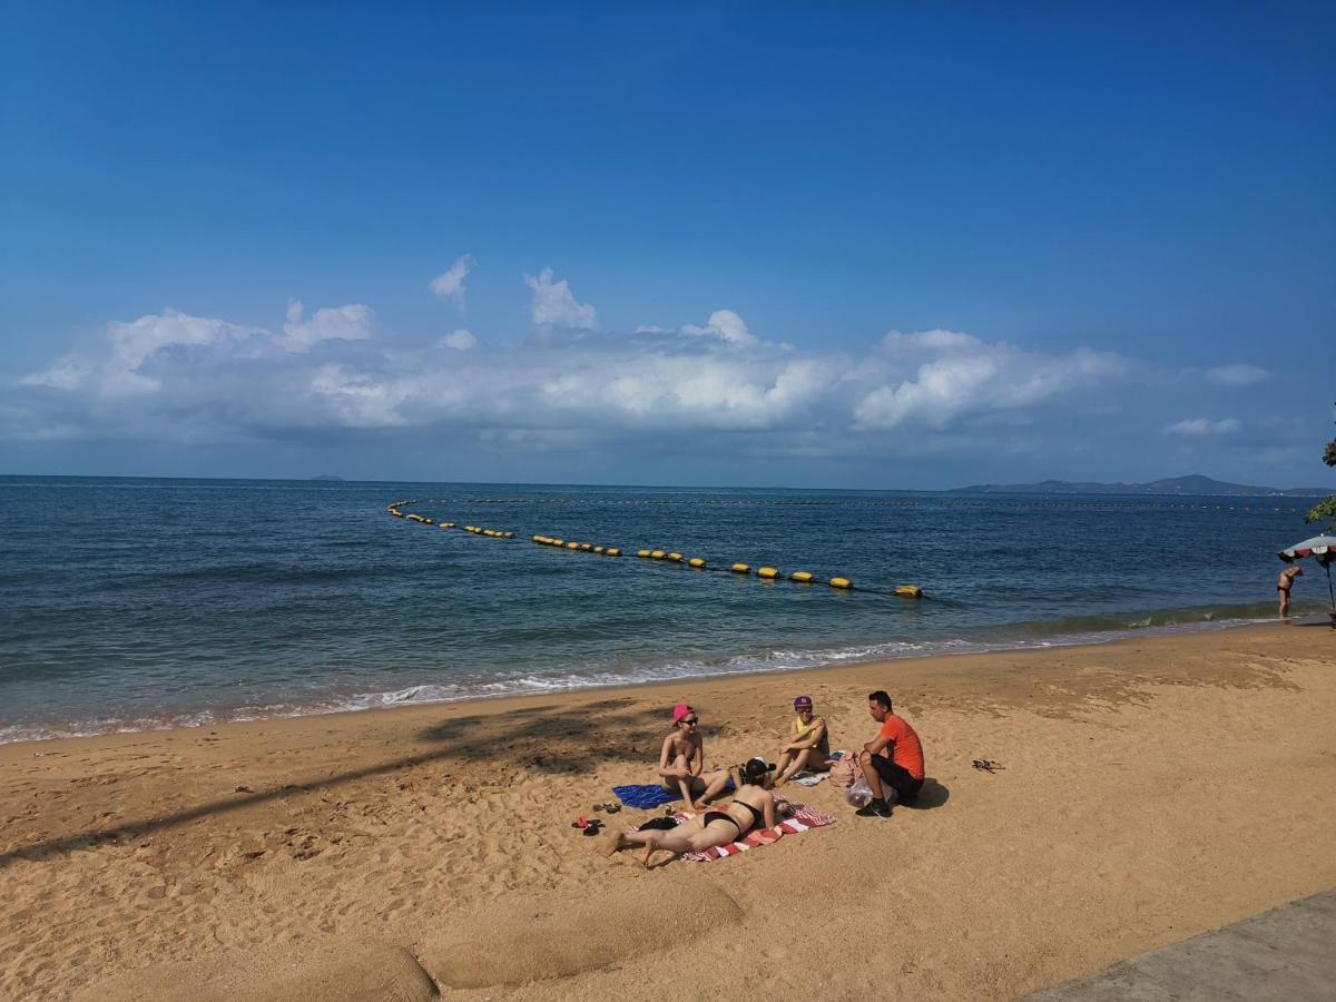
[[[458,258],[432,291],[462,303],[470,267]],[[1039,469],[1157,433],[1188,462],[1208,441],[1246,438],[1248,422],[1174,414],[1185,386],[1206,401],[1269,378],[1245,363],[1169,373],[1089,346],[1033,350],[942,329],[804,350],[723,307],[703,323],[616,333],[552,269],[524,285],[530,329],[460,327],[409,347],[378,345],[365,303],[307,314],[294,299],[277,329],[172,309],[114,321],[100,343],[15,381],[0,441],[198,449],[446,434],[521,468],[526,456],[620,448],[724,469],[886,464],[891,482],[896,464]]]

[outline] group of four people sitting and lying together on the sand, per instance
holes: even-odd
[[[880,724],[876,736],[854,756],[858,771],[867,782],[872,799],[855,811],[860,818],[890,818],[892,803],[912,803],[923,788],[923,745],[918,733],[894,712],[884,689],[867,696],[867,708]],[[818,716],[811,696],[794,700],[794,720],[788,740],[779,749],[779,760],[748,759],[731,768],[705,771],[705,741],[700,733],[700,715],[679,703],[672,711],[672,729],[659,751],[659,783],[665,792],[680,794],[696,811],[691,820],[656,818],[636,831],[613,832],[605,851],[612,855],[632,846],[644,847],[641,863],[649,866],[659,851],[676,855],[704,852],[708,848],[739,842],[748,832],[759,831],[767,840],[778,840],[776,827],[783,802],[774,791],[800,772],[826,772],[839,762],[830,748],[830,728]],[[729,782],[732,799],[711,807]]]

